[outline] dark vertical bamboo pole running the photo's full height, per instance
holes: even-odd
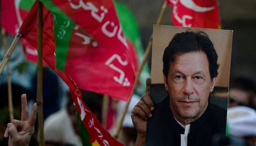
[[[37,9],[37,107],[38,107],[38,129],[39,145],[45,146],[44,141],[44,117],[43,117],[43,65],[42,65],[42,39],[43,39],[43,9],[42,3],[38,1]]]

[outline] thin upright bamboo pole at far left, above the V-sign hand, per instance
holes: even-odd
[[[3,39],[3,47],[4,47],[4,51],[5,53],[7,53],[7,44],[6,44],[6,33],[5,30],[2,29],[1,30],[1,35],[2,35],[2,39]],[[13,105],[12,105],[12,82],[11,82],[11,69],[9,66],[9,62],[7,62],[7,86],[8,86],[8,104],[9,104],[9,115],[10,115],[10,121],[12,122],[12,120],[14,119],[14,114],[13,114]]]

